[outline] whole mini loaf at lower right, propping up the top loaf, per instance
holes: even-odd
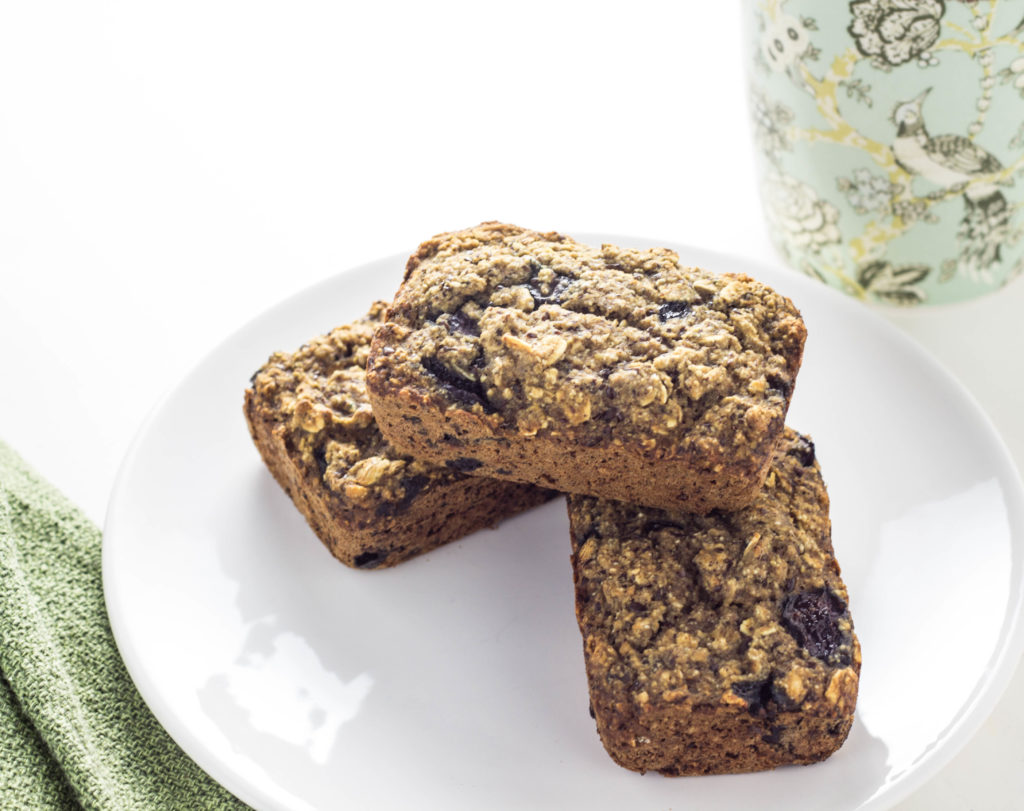
[[[842,745],[860,647],[809,439],[786,431],[741,510],[570,496],[568,511],[591,713],[616,763],[744,772]]]

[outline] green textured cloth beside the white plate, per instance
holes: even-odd
[[[0,442],[0,807],[246,808],[139,696],[99,560],[99,529]]]

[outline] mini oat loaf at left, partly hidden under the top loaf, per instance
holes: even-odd
[[[386,304],[279,352],[253,375],[245,415],[278,483],[331,553],[380,568],[536,506],[554,494],[470,477],[394,451],[366,392],[370,339]]]

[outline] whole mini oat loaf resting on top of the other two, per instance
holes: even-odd
[[[484,223],[409,260],[367,384],[417,458],[707,513],[757,494],[805,336],[748,276]]]

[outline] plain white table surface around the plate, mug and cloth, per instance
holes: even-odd
[[[694,10],[699,5],[699,11]],[[286,295],[501,219],[768,262],[734,3],[0,6],[0,437],[102,521],[142,419]],[[887,315],[1024,469],[1024,282]],[[1024,669],[899,808],[1016,809]]]

